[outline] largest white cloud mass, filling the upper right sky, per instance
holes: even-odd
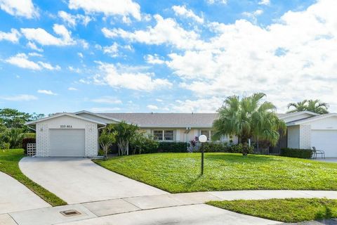
[[[284,110],[305,98],[337,110],[336,8],[337,1],[320,0],[268,27],[247,20],[212,23],[214,37],[198,50],[170,53],[166,65],[199,98],[262,91]]]

